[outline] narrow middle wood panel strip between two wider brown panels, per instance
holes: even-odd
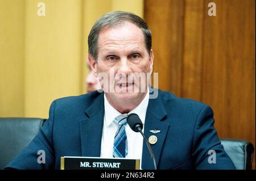
[[[204,53],[204,1],[185,1],[182,93],[201,100]]]

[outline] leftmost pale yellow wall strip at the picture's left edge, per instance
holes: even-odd
[[[24,7],[0,0],[0,116],[24,116]]]

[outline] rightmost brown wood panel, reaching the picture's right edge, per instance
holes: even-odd
[[[217,16],[205,16],[203,102],[220,137],[255,145],[255,1],[214,2]]]

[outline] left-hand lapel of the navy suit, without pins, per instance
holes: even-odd
[[[80,121],[82,156],[100,157],[104,120],[104,94],[98,96],[92,106],[85,111],[85,115],[86,119]]]

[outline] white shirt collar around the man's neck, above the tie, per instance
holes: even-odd
[[[135,107],[133,110],[129,112],[129,113],[137,113],[137,115],[141,118],[141,121],[143,124],[145,122],[148,100],[149,100],[149,90],[147,89],[147,94],[142,100],[142,102],[139,103],[137,107]],[[115,108],[109,104],[108,99],[106,99],[105,93],[104,93],[104,107],[105,107],[106,125],[109,126],[110,124],[112,124],[115,117],[117,117],[118,115],[121,115],[121,113],[115,110]]]

